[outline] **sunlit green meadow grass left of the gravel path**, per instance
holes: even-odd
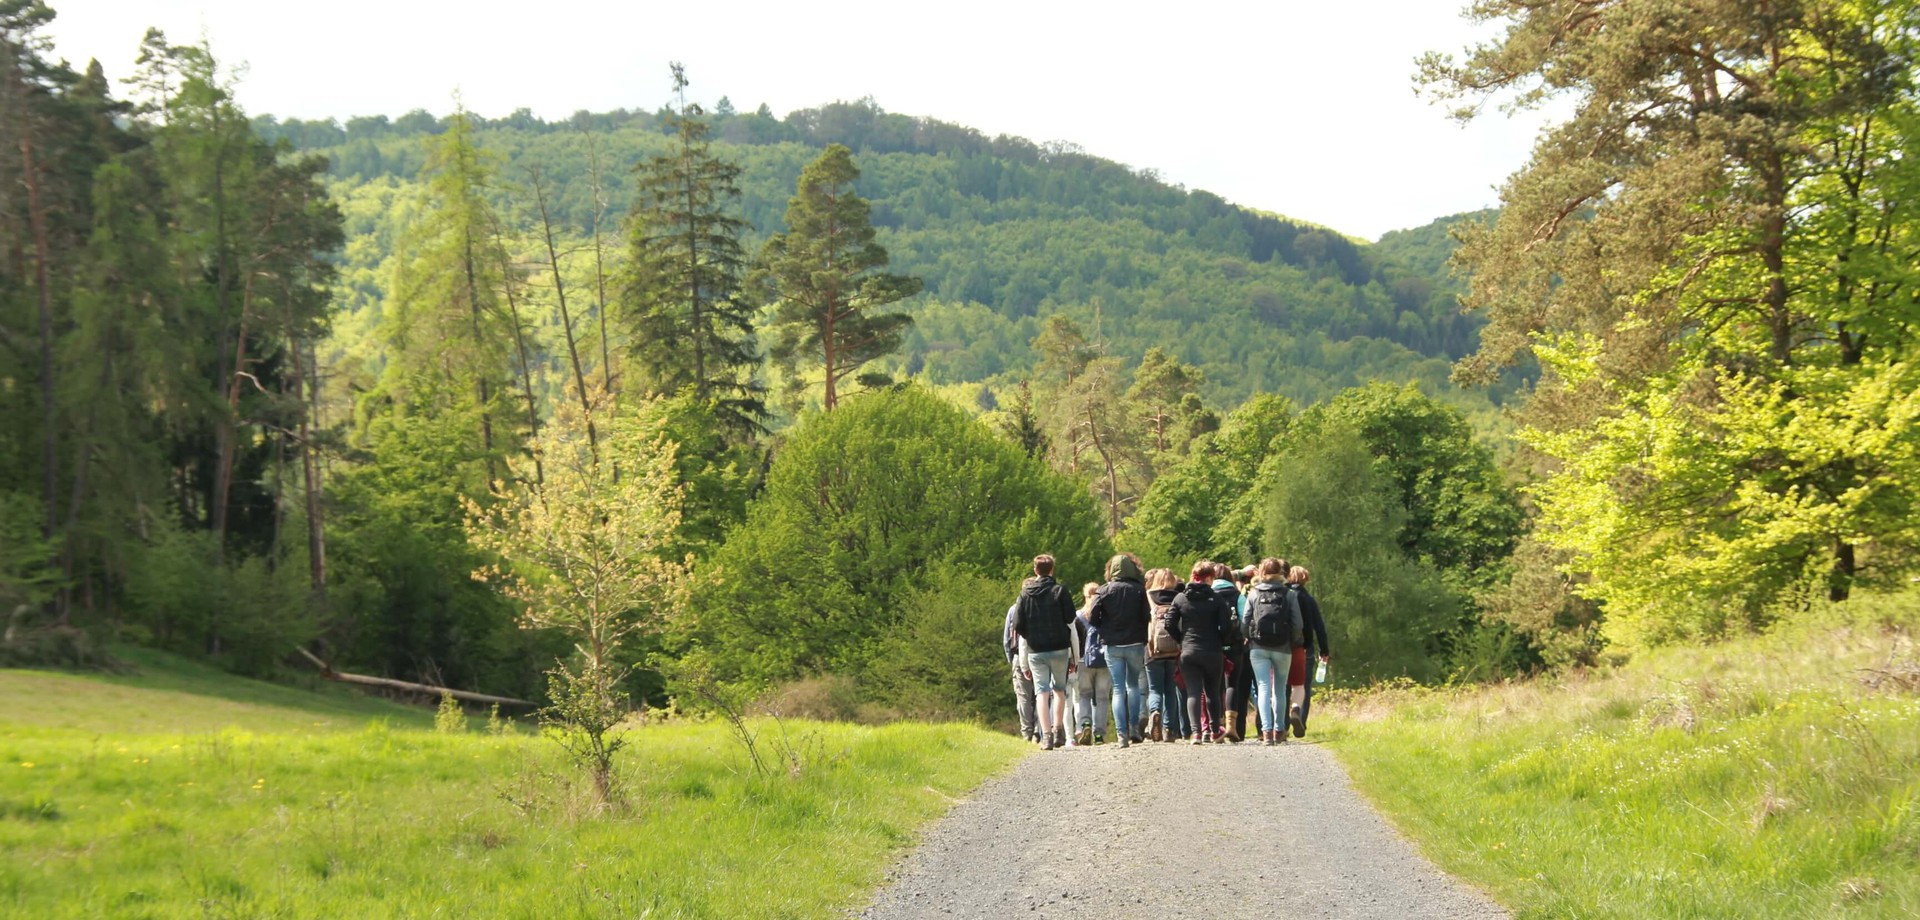
[[[647,726],[595,814],[526,732],[144,665],[0,670],[0,916],[835,916],[1023,751],[789,724],[806,770],[755,780],[724,728]]]

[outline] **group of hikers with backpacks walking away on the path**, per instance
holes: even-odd
[[[1054,580],[1054,557],[1039,555],[1006,611],[1002,643],[1020,732],[1048,751],[1104,743],[1110,724],[1119,747],[1252,732],[1277,745],[1288,728],[1304,738],[1308,659],[1319,659],[1319,680],[1332,661],[1308,570],[1284,559],[1200,561],[1181,582],[1121,553],[1108,559],[1106,584],[1087,582],[1075,605]]]

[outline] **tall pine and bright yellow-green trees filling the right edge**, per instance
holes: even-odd
[[[1459,376],[1540,361],[1538,536],[1611,642],[1920,567],[1914,12],[1500,0],[1475,8],[1498,38],[1423,65],[1463,115],[1569,104],[1498,219],[1461,227],[1488,327]]]

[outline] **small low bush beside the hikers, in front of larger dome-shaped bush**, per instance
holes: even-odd
[[[1008,695],[1000,628],[1010,599],[1000,578],[937,570],[900,603],[866,672],[868,693],[922,720],[1004,722]]]

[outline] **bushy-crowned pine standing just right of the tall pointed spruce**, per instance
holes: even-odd
[[[801,171],[787,202],[787,232],[766,240],[760,278],[774,300],[774,359],[820,369],[820,405],[839,405],[841,384],[877,357],[900,348],[904,313],[883,313],[920,294],[920,278],[889,275],[887,250],[874,242],[866,198],[852,192],[860,171],[852,152],[831,144]]]

